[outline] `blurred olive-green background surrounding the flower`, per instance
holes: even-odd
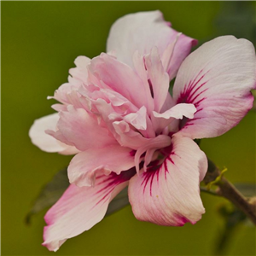
[[[253,1],[2,1],[2,255],[53,255],[43,241],[44,212],[24,218],[45,183],[68,165],[70,156],[47,154],[32,145],[34,119],[54,111],[55,89],[67,81],[78,55],[105,51],[114,20],[160,9],[172,26],[202,44],[218,35],[255,38]],[[255,41],[254,41],[255,42]],[[255,183],[255,111],[224,136],[204,139],[201,148],[233,183]],[[55,255],[212,255],[225,222],[224,199],[202,194],[207,212],[181,228],[137,221],[131,207],[68,240]],[[220,254],[255,255],[255,229],[236,225]]]

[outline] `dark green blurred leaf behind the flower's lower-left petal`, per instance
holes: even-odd
[[[31,224],[31,218],[34,214],[54,205],[68,185],[67,168],[65,168],[55,174],[53,179],[44,186],[38,197],[33,201],[31,210],[26,214],[26,224]]]

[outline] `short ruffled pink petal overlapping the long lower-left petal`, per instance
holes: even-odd
[[[106,148],[87,149],[73,157],[68,168],[70,183],[82,186],[93,186],[96,173],[108,175],[110,172],[119,174],[135,166],[133,150],[119,145]]]

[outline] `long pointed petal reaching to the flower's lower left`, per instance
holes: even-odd
[[[44,228],[43,245],[49,251],[57,251],[68,238],[90,230],[102,220],[109,202],[134,174],[135,170],[131,169],[120,175],[98,176],[94,187],[79,188],[71,184],[44,217],[48,226]]]

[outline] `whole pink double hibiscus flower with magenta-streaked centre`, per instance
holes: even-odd
[[[108,54],[75,60],[53,96],[58,113],[30,130],[39,148],[76,154],[71,185],[45,215],[49,250],[101,221],[127,185],[137,219],[172,226],[201,219],[207,157],[193,139],[229,131],[252,108],[256,64],[245,39],[216,38],[189,55],[195,43],[159,11],[137,13],[113,24]]]

